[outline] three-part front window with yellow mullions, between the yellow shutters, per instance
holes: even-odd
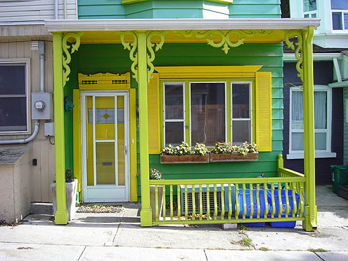
[[[251,81],[164,82],[162,91],[164,146],[253,141]]]

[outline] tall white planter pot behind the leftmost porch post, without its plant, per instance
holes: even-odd
[[[56,201],[56,183],[51,184],[52,191],[52,203],[53,203],[53,214],[57,211],[57,201]],[[69,214],[69,221],[74,219],[75,215],[75,203],[77,195],[77,180],[73,182],[65,183],[65,198],[66,198],[66,208]]]

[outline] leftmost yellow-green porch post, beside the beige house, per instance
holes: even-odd
[[[53,33],[53,77],[54,77],[54,134],[56,157],[56,202],[54,216],[57,225],[68,223],[68,211],[65,202],[65,148],[64,148],[64,104],[63,104],[63,68],[62,33]]]

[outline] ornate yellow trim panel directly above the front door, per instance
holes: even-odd
[[[80,90],[127,90],[130,88],[130,73],[81,74],[79,73]]]

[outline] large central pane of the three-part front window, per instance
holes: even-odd
[[[225,84],[191,84],[191,144],[225,141]]]

